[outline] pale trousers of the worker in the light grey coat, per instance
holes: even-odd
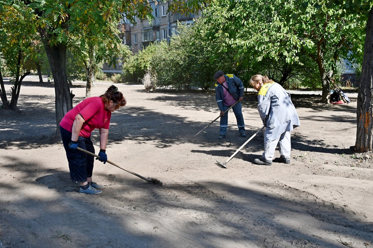
[[[262,155],[264,160],[272,162],[277,144],[279,144],[280,155],[285,158],[290,158],[290,131],[286,131],[274,141],[264,142],[264,152]]]

